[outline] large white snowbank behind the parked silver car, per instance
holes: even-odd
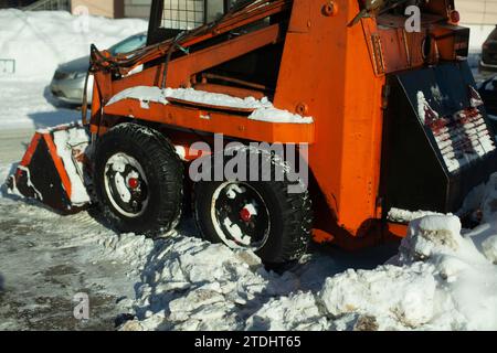
[[[1,58],[15,61],[15,78],[50,79],[60,64],[89,55],[92,43],[107,49],[146,30],[142,20],[0,10],[0,53]]]

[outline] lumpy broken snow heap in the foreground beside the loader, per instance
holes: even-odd
[[[387,265],[329,278],[319,274],[330,263],[316,255],[279,276],[252,253],[198,238],[124,236],[109,249],[116,259],[131,256],[130,237],[152,250],[141,263],[136,319],[120,329],[497,330],[497,175],[486,194],[491,215],[476,229],[427,215],[411,222]],[[324,285],[304,285],[313,281]]]

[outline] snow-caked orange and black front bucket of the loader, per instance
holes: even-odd
[[[89,137],[78,125],[38,131],[8,186],[62,214],[89,204],[85,186],[85,152]]]

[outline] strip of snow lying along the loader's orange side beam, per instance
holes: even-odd
[[[287,110],[276,109],[265,97],[261,100],[254,97],[237,98],[229,95],[197,90],[193,88],[166,88],[139,86],[125,89],[115,95],[107,105],[113,105],[124,99],[136,99],[140,101],[144,109],[149,109],[149,103],[169,104],[168,98],[180,99],[197,104],[216,107],[229,107],[236,109],[254,110],[248,119],[281,124],[313,124],[311,117],[302,117]]]

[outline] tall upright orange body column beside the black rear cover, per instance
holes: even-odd
[[[357,3],[337,2],[337,15],[325,17],[322,1],[295,1],[275,105],[309,107],[316,125],[310,168],[335,222],[357,236],[379,216],[384,81],[374,75],[362,26],[348,26],[359,11]],[[332,222],[317,226],[332,234]]]

